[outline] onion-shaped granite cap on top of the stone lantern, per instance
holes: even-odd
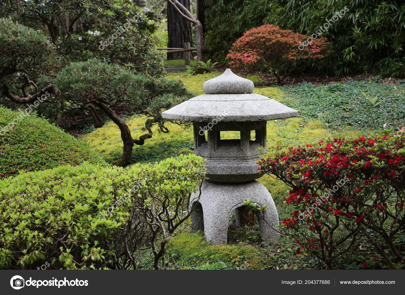
[[[252,93],[254,84],[226,69],[222,75],[206,81],[203,89],[206,94],[243,94]]]

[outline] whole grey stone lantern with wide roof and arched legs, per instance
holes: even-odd
[[[230,69],[206,81],[203,89],[206,94],[162,113],[167,120],[193,122],[194,153],[207,159],[201,195],[194,193],[190,199],[190,206],[199,203],[191,215],[192,230],[204,229],[207,240],[225,244],[232,212],[240,226],[243,214],[239,208],[252,200],[267,206],[264,219],[271,226],[259,219],[260,235],[275,237],[277,232],[271,227],[279,224],[277,209],[269,191],[255,180],[261,176],[258,148],[267,151],[266,121],[296,117],[298,111],[253,93],[253,82]],[[240,139],[222,139],[223,131],[240,132]]]

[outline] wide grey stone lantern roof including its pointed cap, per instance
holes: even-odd
[[[298,111],[253,93],[252,81],[230,69],[204,83],[206,94],[162,112],[163,119],[184,122],[257,122],[296,117]]]

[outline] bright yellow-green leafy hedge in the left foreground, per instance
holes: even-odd
[[[135,207],[151,194],[190,197],[204,172],[204,159],[190,154],[128,168],[86,162],[0,180],[0,269],[46,262],[48,269],[117,269],[111,259],[127,269],[126,243],[138,253],[150,241],[143,216],[131,217]]]

